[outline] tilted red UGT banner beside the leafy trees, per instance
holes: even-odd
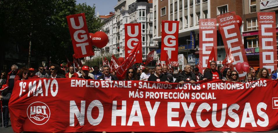
[[[66,16],[75,58],[93,56],[89,31],[84,13]]]

